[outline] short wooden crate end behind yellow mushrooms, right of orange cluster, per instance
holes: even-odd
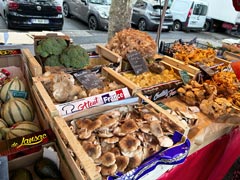
[[[169,56],[164,56],[161,62],[163,62],[163,63],[166,62],[166,63],[172,65],[173,67],[185,70],[194,76],[200,72],[200,69],[198,69],[194,66],[191,66],[191,65],[186,65],[184,62],[179,61],[179,60],[169,57]]]

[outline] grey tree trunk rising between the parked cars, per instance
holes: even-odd
[[[131,27],[132,4],[136,0],[112,0],[109,12],[108,41],[123,29]]]

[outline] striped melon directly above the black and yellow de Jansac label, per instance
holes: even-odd
[[[6,139],[13,139],[41,131],[39,125],[35,122],[22,121],[14,124],[11,128],[4,128]]]

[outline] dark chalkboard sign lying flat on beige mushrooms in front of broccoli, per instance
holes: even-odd
[[[103,82],[99,79],[94,72],[84,70],[73,73],[73,76],[87,89],[101,88]]]

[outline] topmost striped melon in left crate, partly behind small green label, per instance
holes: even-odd
[[[3,85],[0,91],[0,98],[3,102],[6,102],[9,99],[9,91],[25,91],[25,85],[22,80],[20,80],[17,76],[11,79],[11,81],[7,82]]]

